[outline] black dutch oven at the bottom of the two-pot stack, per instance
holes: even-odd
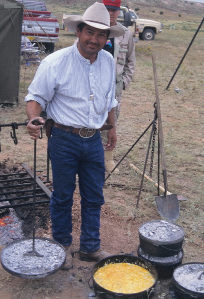
[[[176,255],[170,257],[154,257],[144,253],[140,246],[137,249],[138,256],[150,262],[158,272],[159,279],[170,278],[173,275],[174,269],[181,265],[184,251],[183,249]]]

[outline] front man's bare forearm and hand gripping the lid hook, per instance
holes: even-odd
[[[31,122],[34,119],[38,119],[41,124],[45,123],[44,119],[39,116],[41,111],[42,111],[42,107],[36,101],[27,102],[26,113],[29,119],[29,122],[27,124],[27,131],[30,134],[31,139],[33,140],[39,137],[41,126],[40,125],[36,126]]]

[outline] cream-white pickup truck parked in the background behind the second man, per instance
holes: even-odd
[[[162,24],[160,22],[139,18],[137,13],[127,6],[121,6],[120,9],[117,21],[133,31],[133,34],[134,32],[139,33],[140,39],[153,40],[155,34],[162,32]]]

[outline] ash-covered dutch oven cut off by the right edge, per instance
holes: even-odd
[[[204,263],[186,263],[173,273],[173,288],[178,299],[204,299]]]

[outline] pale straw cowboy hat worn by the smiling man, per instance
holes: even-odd
[[[103,3],[95,2],[86,9],[82,16],[68,16],[64,20],[64,25],[70,31],[76,32],[77,25],[81,22],[98,29],[110,30],[109,38],[118,37],[125,34],[125,30],[117,25],[110,27],[110,15]]]

